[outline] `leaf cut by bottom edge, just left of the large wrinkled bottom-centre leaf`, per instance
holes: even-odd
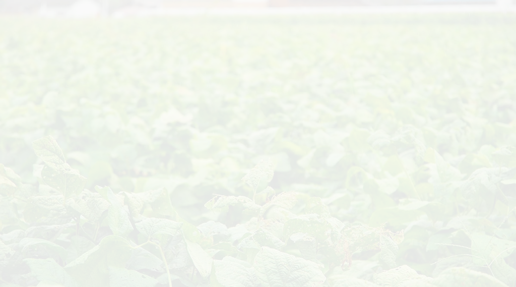
[[[252,265],[232,257],[214,260],[212,275],[209,277],[211,286],[217,287],[259,287]]]

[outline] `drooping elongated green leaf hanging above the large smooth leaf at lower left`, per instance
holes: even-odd
[[[101,188],[97,185],[95,186],[95,190],[111,204],[107,210],[107,222],[109,228],[114,235],[126,237],[127,234],[133,231],[133,226],[129,220],[129,215],[123,209],[122,204],[120,204],[117,197],[108,186]]]

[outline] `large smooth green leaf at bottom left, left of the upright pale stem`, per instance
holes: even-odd
[[[83,286],[109,286],[108,267],[124,268],[131,253],[128,241],[117,235],[108,235],[99,245],[70,262],[65,271]]]

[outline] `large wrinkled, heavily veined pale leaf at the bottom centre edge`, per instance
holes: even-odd
[[[316,263],[268,247],[256,255],[254,270],[263,287],[313,287],[326,280]]]

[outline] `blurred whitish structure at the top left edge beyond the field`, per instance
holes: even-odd
[[[45,18],[88,18],[100,15],[101,9],[94,0],[43,0],[38,14]]]

